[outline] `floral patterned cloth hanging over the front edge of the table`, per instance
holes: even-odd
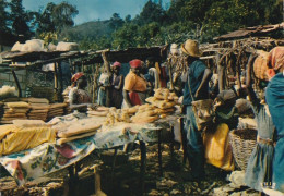
[[[155,124],[126,124],[113,126],[96,135],[69,142],[61,146],[43,144],[33,149],[0,157],[0,163],[9,171],[15,181],[22,185],[51,172],[78,162],[95,149],[109,149],[135,140],[145,143],[157,142],[157,131],[176,121],[169,115]],[[122,132],[121,130],[126,130]]]

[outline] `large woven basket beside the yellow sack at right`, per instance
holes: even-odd
[[[234,130],[229,133],[229,140],[235,161],[245,171],[249,157],[257,144],[257,130]]]

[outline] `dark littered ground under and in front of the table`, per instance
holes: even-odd
[[[213,189],[226,186],[228,172],[222,171],[210,164],[205,164],[206,176],[200,183],[188,182],[182,177],[189,173],[188,163],[182,164],[182,151],[176,146],[174,155],[170,155],[169,146],[162,145],[163,149],[163,175],[161,175],[158,167],[157,145],[147,145],[147,159],[145,172],[144,195],[169,196],[169,195],[216,195]],[[140,182],[140,149],[137,148],[128,155],[118,152],[116,158],[116,167],[113,167],[114,150],[93,152],[88,157],[81,160],[76,166],[79,170],[79,179],[75,182],[69,181],[68,169],[55,172],[32,182],[22,187],[16,187],[11,177],[2,177],[0,180],[0,188],[2,195],[94,195],[95,177],[93,166],[98,166],[102,191],[109,196],[134,196],[141,194]],[[10,189],[5,188],[10,183]],[[69,184],[72,184],[69,186]],[[13,185],[14,184],[14,187]],[[2,187],[1,187],[2,186]],[[7,186],[8,187],[8,186]],[[13,187],[13,188],[11,188]],[[244,192],[246,189],[246,194]],[[248,192],[249,191],[249,192]],[[1,195],[0,194],[0,195]],[[220,194],[217,194],[220,195]],[[257,192],[240,187],[224,192],[222,195],[258,195]]]

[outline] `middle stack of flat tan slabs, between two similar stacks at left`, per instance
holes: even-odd
[[[31,120],[47,120],[49,101],[45,98],[27,98],[26,101],[31,106],[27,118]]]

